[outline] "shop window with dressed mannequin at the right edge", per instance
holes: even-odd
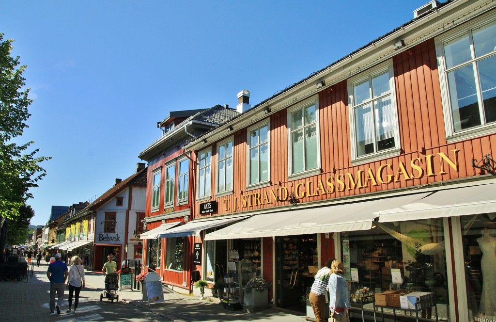
[[[495,321],[496,213],[461,217],[467,321]]]

